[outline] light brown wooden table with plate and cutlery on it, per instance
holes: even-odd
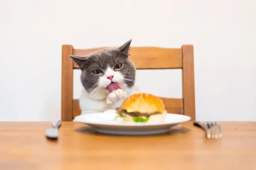
[[[63,122],[57,141],[50,122],[0,122],[0,170],[256,170],[256,122],[223,122],[208,140],[187,122],[170,133],[116,136]]]

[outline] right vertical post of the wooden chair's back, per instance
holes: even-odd
[[[183,106],[184,114],[195,121],[195,79],[194,79],[194,49],[193,45],[182,46],[183,69]]]

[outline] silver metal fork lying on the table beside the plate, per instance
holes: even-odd
[[[208,139],[210,139],[210,138],[218,139],[218,138],[222,137],[221,125],[217,122],[195,121],[195,122],[193,122],[193,125],[204,129]]]

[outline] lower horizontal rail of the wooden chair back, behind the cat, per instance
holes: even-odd
[[[161,98],[161,97],[160,97]],[[161,98],[168,113],[183,114],[182,98]],[[73,118],[81,114],[79,99],[73,99]]]

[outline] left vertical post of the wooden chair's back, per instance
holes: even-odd
[[[73,120],[73,46],[62,46],[61,67],[61,121]]]

